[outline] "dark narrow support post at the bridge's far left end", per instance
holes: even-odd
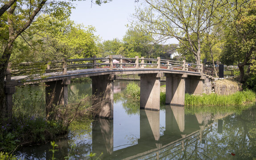
[[[8,118],[12,117],[12,95],[16,91],[16,88],[12,84],[10,84],[11,74],[12,74],[11,63],[8,63],[8,68],[6,70],[6,76],[5,76],[6,85],[4,88],[5,100],[6,100],[5,116],[7,116]]]

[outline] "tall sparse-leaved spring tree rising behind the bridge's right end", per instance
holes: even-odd
[[[141,31],[149,33],[160,41],[176,38],[201,63],[201,40],[205,30],[215,23],[209,20],[227,6],[222,0],[144,0],[140,5],[133,24]],[[226,9],[223,9],[225,11]],[[215,13],[215,14],[214,14]],[[192,38],[192,36],[195,36]]]

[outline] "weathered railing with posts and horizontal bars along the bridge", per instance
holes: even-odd
[[[160,57],[153,58],[126,58],[119,57],[113,59],[113,56],[99,58],[50,60],[40,62],[23,62],[18,65],[9,65],[12,76],[34,75],[40,73],[62,72],[69,70],[89,69],[89,68],[162,68],[170,70],[182,70],[190,72],[202,72],[202,64],[192,64],[183,61],[163,60]]]

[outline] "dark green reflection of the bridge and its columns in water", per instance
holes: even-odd
[[[182,152],[186,145],[204,141],[204,134],[211,130],[212,118],[211,114],[185,115],[184,107],[166,105],[165,131],[161,133],[160,111],[140,109],[140,135],[137,142],[118,150],[114,149],[114,136],[118,136],[119,132],[114,135],[113,120],[99,119],[93,123],[92,152],[97,155],[103,153],[103,160],[159,160],[166,156],[171,159]],[[190,140],[185,144],[186,139]]]

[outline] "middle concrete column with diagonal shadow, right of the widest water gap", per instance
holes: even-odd
[[[140,75],[140,108],[160,110],[161,73]]]

